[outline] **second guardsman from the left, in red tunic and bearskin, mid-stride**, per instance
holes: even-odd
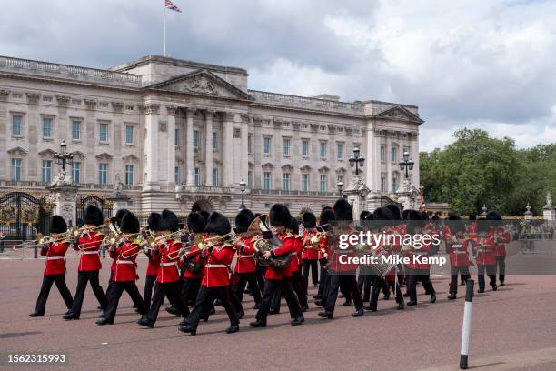
[[[79,319],[81,316],[87,282],[91,283],[94,296],[103,311],[108,304],[103,287],[98,282],[98,273],[102,267],[98,253],[103,244],[104,235],[97,229],[102,225],[103,212],[94,205],[87,206],[84,211],[84,228],[81,230],[81,236],[78,237],[78,243],[74,244],[74,249],[80,254],[74,304],[63,316],[65,320]]]

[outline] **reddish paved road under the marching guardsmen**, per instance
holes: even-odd
[[[76,260],[69,259],[66,277],[76,285]],[[104,260],[102,282],[108,280]],[[96,326],[99,312],[90,288],[79,321],[65,322],[63,301],[55,287],[46,316],[29,318],[42,280],[40,260],[0,260],[0,353],[64,352],[72,369],[98,370],[118,365],[135,370],[419,370],[457,369],[463,299],[446,299],[448,280],[435,277],[436,304],[404,311],[393,300],[379,311],[352,318],[353,308],[336,307],[333,321],[317,316],[313,305],[303,326],[290,326],[285,303],[281,315],[270,316],[266,329],[249,328],[249,310],[237,334],[226,335],[222,307],[197,336],[177,331],[178,318],[161,312],[154,329],[134,322],[138,315],[125,294],[114,326]],[[144,272],[145,261],[139,264]],[[144,277],[139,281],[142,289]],[[489,369],[556,369],[556,276],[509,276],[507,286],[475,297],[470,365]],[[420,288],[420,291],[422,289]],[[251,296],[246,296],[253,304]],[[55,366],[9,366],[2,369],[56,369]],[[60,369],[68,369],[61,366]]]

